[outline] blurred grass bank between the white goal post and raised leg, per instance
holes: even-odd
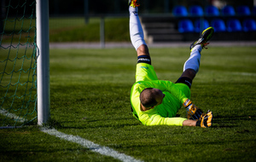
[[[76,19],[50,19],[49,41],[50,42],[99,42],[100,19],[90,19],[85,24],[84,18]],[[106,18],[105,41],[128,42],[129,18]]]

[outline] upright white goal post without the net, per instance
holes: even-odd
[[[37,0],[38,124],[49,119],[49,1]]]

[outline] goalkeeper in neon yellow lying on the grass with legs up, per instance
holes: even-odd
[[[131,43],[137,50],[136,83],[131,88],[131,111],[145,125],[212,126],[212,112],[203,113],[189,100],[190,87],[201,61],[201,49],[207,46],[214,29],[207,28],[201,38],[190,46],[190,56],[184,63],[183,73],[177,82],[158,80],[143,28],[137,15],[137,0],[129,0]],[[187,119],[176,117],[180,107],[186,107]]]

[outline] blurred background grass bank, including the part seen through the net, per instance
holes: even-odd
[[[106,42],[129,42],[129,18],[106,18]],[[49,42],[100,42],[100,18],[50,18]],[[35,40],[35,20],[6,21],[2,43],[32,43]],[[20,31],[22,29],[22,32]],[[11,34],[15,33],[15,34]]]

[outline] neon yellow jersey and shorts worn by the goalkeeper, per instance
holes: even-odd
[[[144,76],[144,77],[143,77]],[[145,63],[137,64],[137,82],[131,88],[131,108],[134,116],[146,125],[183,125],[184,118],[176,118],[177,111],[184,101],[190,98],[189,87],[157,80],[154,67]],[[146,88],[162,90],[166,95],[163,102],[153,109],[141,111],[140,93]]]

